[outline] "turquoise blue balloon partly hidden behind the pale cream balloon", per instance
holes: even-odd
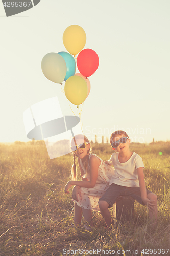
[[[64,81],[66,81],[70,76],[74,76],[76,72],[76,62],[74,57],[68,52],[58,52],[58,54],[63,57],[67,66],[67,73],[64,78]]]

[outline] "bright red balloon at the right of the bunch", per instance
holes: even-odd
[[[92,49],[84,49],[79,53],[77,57],[77,67],[83,76],[91,76],[98,69],[98,66],[98,54]]]

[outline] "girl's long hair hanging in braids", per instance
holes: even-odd
[[[72,141],[74,141],[74,144],[76,145],[76,139],[84,139],[84,142],[90,143],[85,135],[77,134],[77,135],[75,135],[75,137],[73,137],[70,140],[70,146],[71,146]],[[87,151],[87,154],[89,154],[90,151],[91,151],[91,145],[90,145],[90,149]],[[71,168],[71,176],[70,177],[72,177],[72,180],[76,180],[76,177],[77,177],[76,155],[75,155],[74,152],[72,154],[73,154],[73,164],[72,164],[72,168]],[[89,172],[89,169],[88,169],[88,158],[86,158],[86,161],[83,163],[83,165],[84,165],[84,168],[87,170],[87,173],[88,173]]]

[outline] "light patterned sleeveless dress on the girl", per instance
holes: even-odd
[[[89,155],[88,169],[90,169],[89,160],[92,155],[94,154]],[[111,176],[114,175],[114,168],[109,166],[108,164],[105,164],[101,158],[99,159],[101,161],[101,164],[98,168],[98,177],[95,186],[93,188],[80,187],[81,197],[78,195],[78,202],[72,199],[72,201],[74,201],[75,203],[77,203],[78,206],[84,209],[100,211],[98,201],[105,194],[106,190],[109,187],[109,181],[111,179]],[[81,159],[80,165],[85,173],[83,178],[86,177],[88,180],[90,180],[90,174],[86,172],[86,169],[83,167]]]

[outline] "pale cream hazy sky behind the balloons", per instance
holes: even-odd
[[[6,17],[0,3],[0,142],[29,141],[23,112],[37,102],[57,96],[63,115],[78,115],[41,70],[44,55],[67,52],[62,36],[70,25],[84,29],[84,49],[99,56],[82,106],[88,139],[125,130],[133,142],[170,140],[169,11],[168,0],[41,0]]]

